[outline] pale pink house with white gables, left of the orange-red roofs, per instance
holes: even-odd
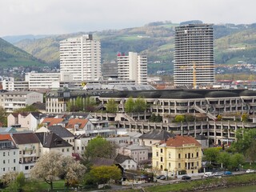
[[[12,113],[7,117],[8,126],[21,126],[28,128],[29,130],[35,131],[38,129],[38,124],[40,122],[39,112],[22,112],[22,113]]]

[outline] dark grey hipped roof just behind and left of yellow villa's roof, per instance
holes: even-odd
[[[146,132],[146,134],[142,134],[142,136],[140,136],[139,138],[147,138],[162,141],[172,137],[174,137],[174,134],[171,134],[166,130],[150,130],[149,132]]]

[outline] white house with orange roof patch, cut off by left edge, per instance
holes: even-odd
[[[19,171],[18,148],[10,134],[0,134],[0,178],[9,171]]]

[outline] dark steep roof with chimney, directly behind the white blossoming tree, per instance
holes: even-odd
[[[57,148],[71,146],[70,143],[66,142],[64,139],[60,138],[54,132],[50,133],[35,133],[40,140],[43,147],[46,148]]]

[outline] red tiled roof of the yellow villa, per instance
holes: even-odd
[[[164,142],[162,142],[164,143]],[[184,144],[195,144],[195,146],[201,146],[201,144],[193,137],[176,135],[173,138],[169,138],[166,142],[166,146],[179,147]]]

